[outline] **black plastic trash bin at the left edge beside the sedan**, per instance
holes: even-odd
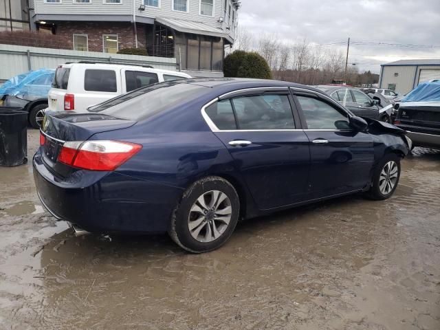
[[[27,111],[17,107],[0,107],[0,166],[28,162],[27,130]]]

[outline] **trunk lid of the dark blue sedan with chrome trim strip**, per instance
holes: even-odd
[[[45,166],[52,173],[66,177],[76,169],[57,162],[64,142],[86,141],[96,134],[133,126],[134,120],[122,120],[100,113],[46,113],[42,134],[45,137],[41,145],[41,155]]]

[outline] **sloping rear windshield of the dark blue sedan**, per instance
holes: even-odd
[[[113,115],[117,118],[140,120],[191,100],[207,88],[188,83],[161,83],[135,89],[130,93],[90,107],[88,110]]]

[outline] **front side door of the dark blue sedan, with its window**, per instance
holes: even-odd
[[[318,97],[296,96],[311,153],[314,199],[364,188],[374,163],[373,138],[355,132],[348,114]]]

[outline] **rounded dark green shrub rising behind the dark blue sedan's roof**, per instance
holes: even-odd
[[[236,50],[225,58],[225,77],[272,79],[272,72],[265,59],[256,52]]]

